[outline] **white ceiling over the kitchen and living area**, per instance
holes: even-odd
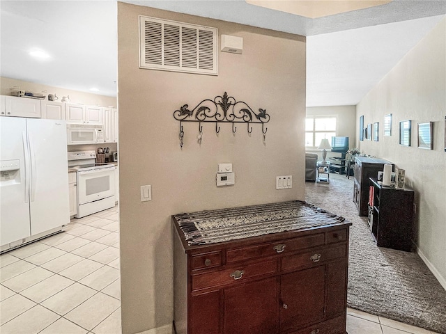
[[[125,2],[306,35],[307,106],[357,104],[446,14],[443,0],[317,19],[243,0]],[[116,1],[1,0],[0,12],[2,77],[116,96]],[[31,58],[32,48],[51,58]]]

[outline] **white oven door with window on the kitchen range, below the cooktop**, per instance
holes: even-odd
[[[77,202],[83,205],[102,198],[114,197],[116,167],[79,170],[77,172]]]

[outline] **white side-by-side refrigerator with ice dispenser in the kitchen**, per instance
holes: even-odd
[[[0,250],[68,223],[66,122],[0,116]]]

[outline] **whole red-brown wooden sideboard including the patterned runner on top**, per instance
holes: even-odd
[[[176,334],[347,334],[344,218],[293,201],[172,219]]]

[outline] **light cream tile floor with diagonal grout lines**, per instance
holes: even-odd
[[[121,333],[118,207],[0,255],[1,334]],[[348,309],[348,334],[433,334]]]

